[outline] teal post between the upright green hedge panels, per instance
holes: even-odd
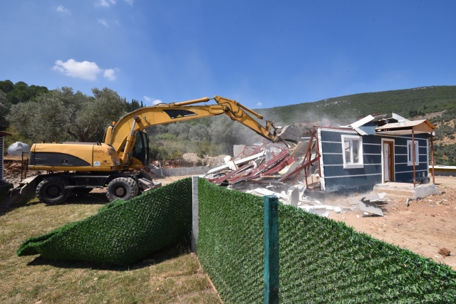
[[[264,303],[279,303],[279,199],[264,196]]]

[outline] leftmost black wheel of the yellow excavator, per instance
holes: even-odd
[[[46,204],[61,204],[70,196],[70,190],[65,189],[65,184],[58,177],[48,177],[36,187],[36,197]]]

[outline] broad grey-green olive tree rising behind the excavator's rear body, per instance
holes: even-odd
[[[108,88],[94,88],[90,97],[64,87],[13,105],[7,119],[33,142],[101,141],[105,127],[124,109],[125,100]]]

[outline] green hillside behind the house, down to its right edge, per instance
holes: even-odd
[[[258,110],[276,125],[348,125],[369,114],[395,112],[409,119],[429,119],[435,131],[435,164],[456,165],[456,85],[361,93]]]

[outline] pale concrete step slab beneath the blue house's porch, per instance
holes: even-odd
[[[399,182],[376,184],[373,192],[385,193],[387,199],[423,199],[441,193],[435,184],[418,184],[413,187],[413,184]]]

